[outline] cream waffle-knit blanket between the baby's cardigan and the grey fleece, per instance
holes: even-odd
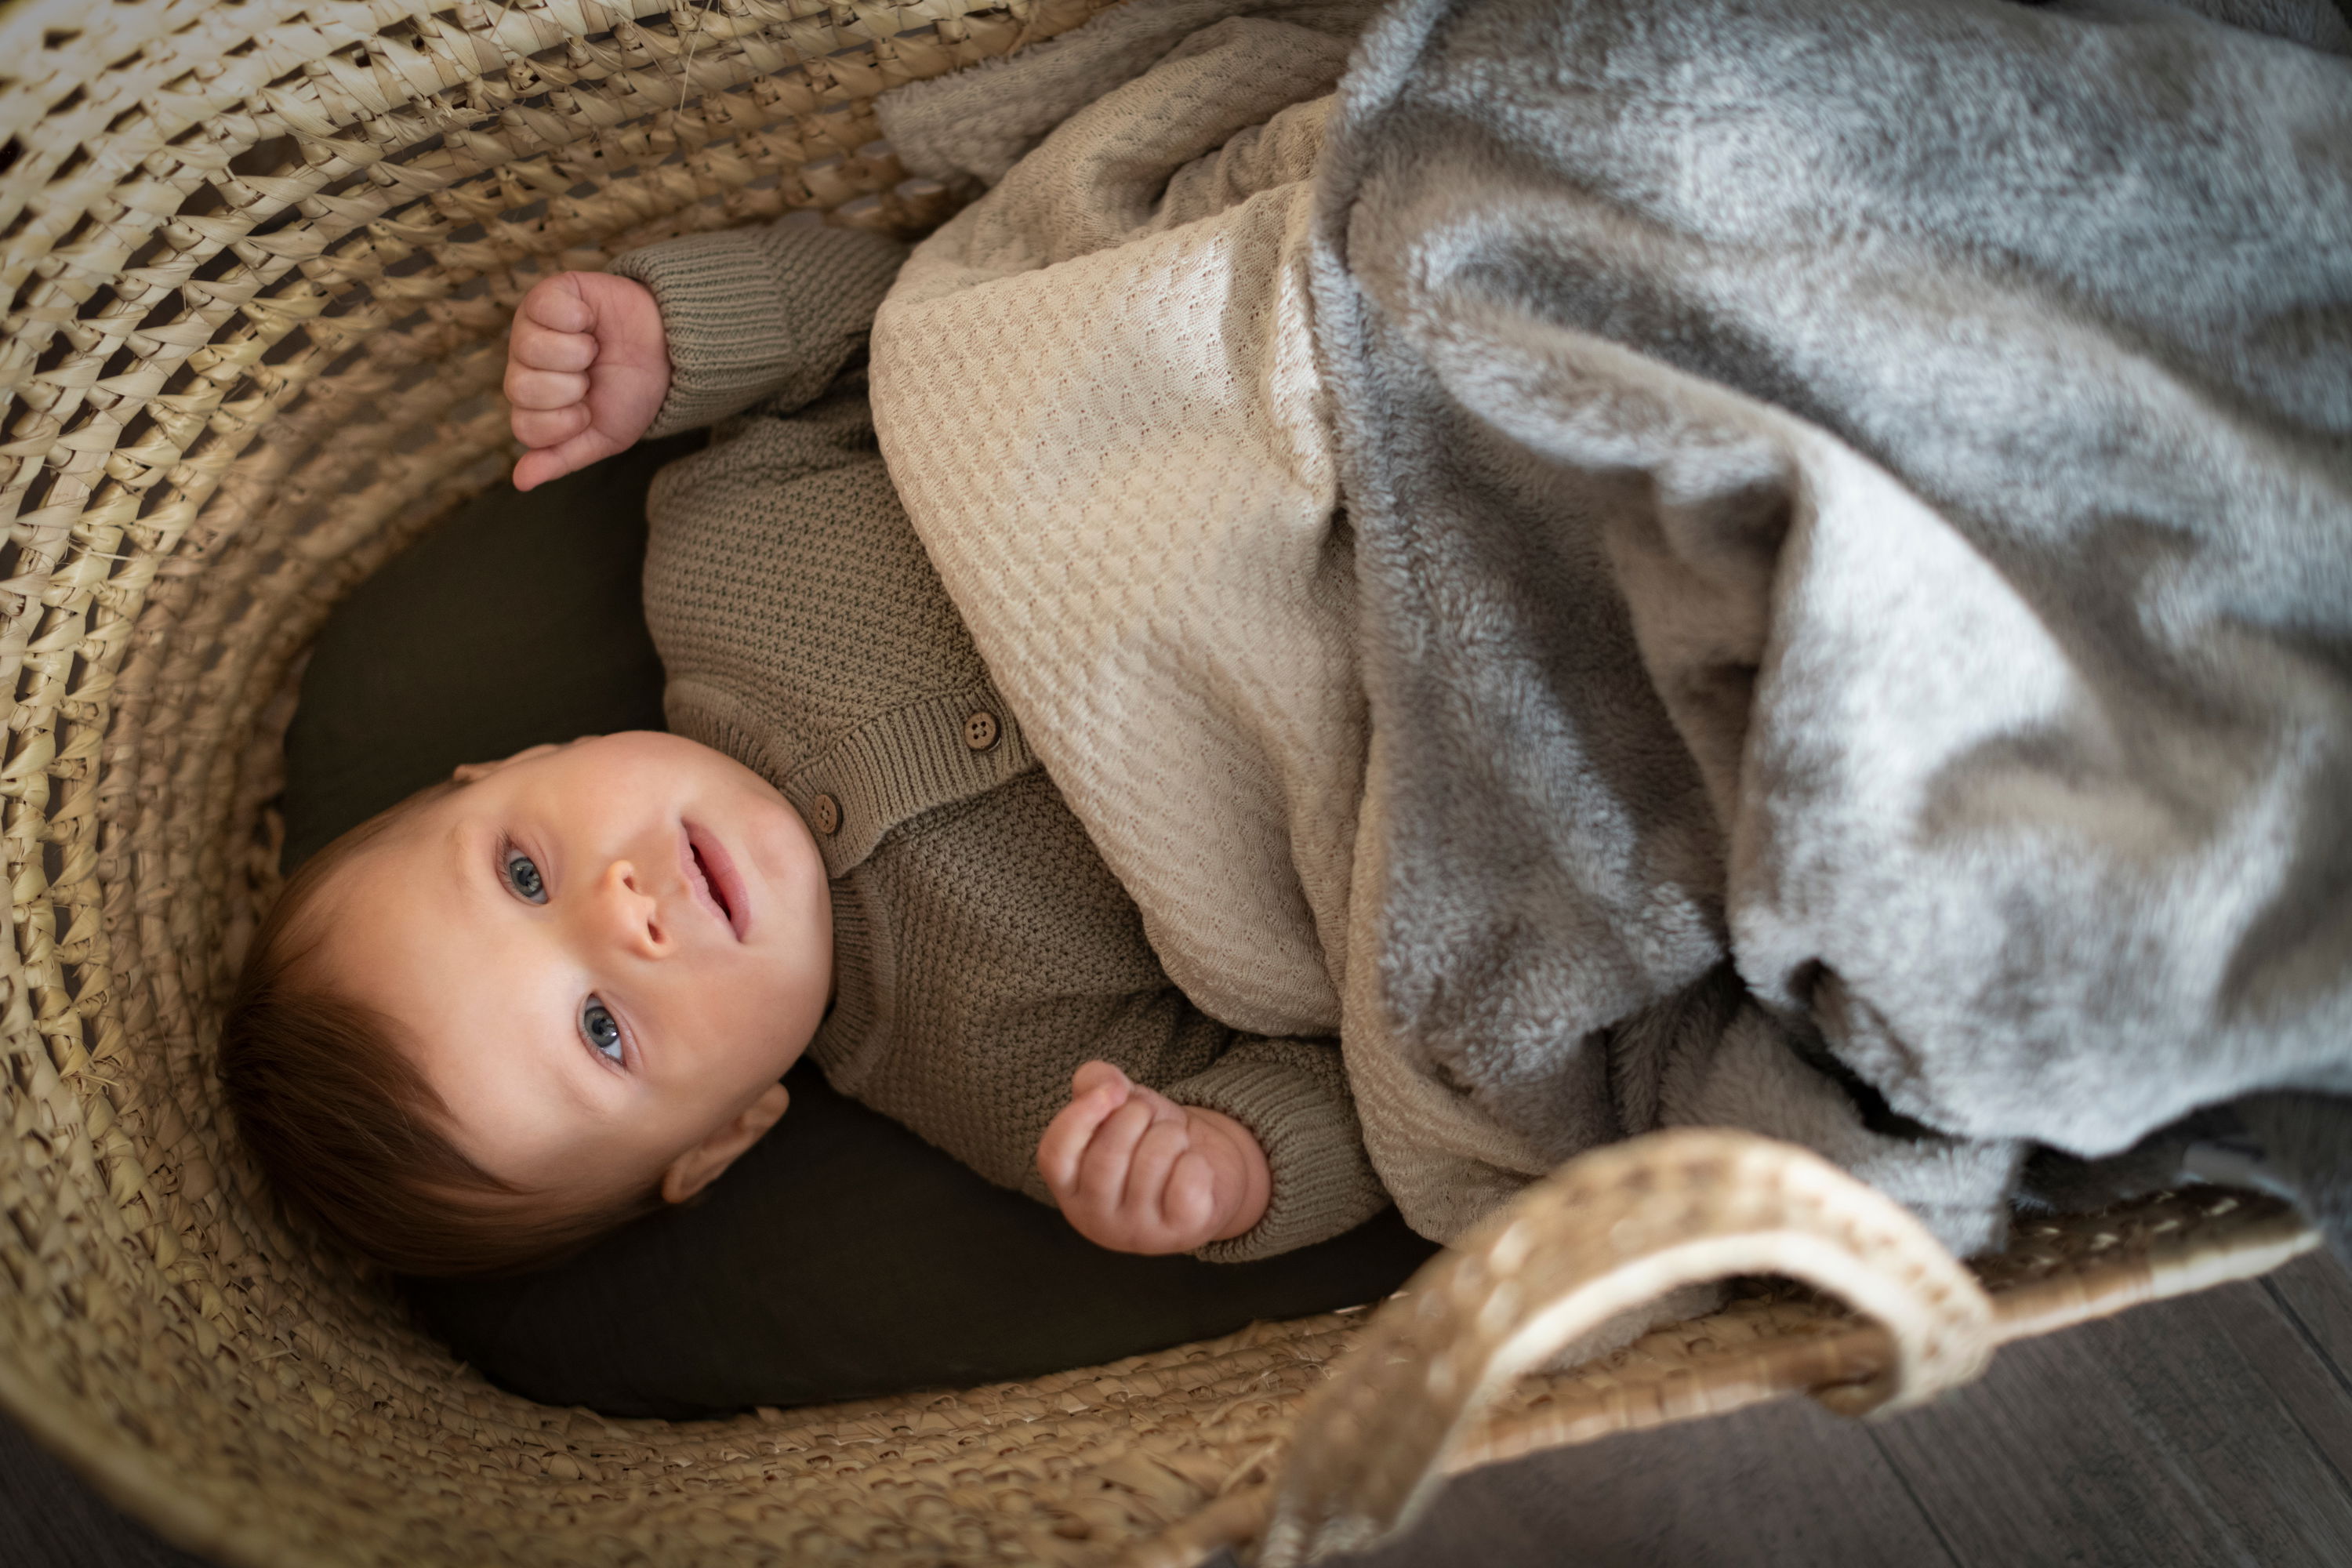
[[[993,85],[1058,82],[1096,28],[1138,26],[1105,12]],[[1148,71],[927,240],[875,320],[891,475],[1030,745],[1176,983],[1270,1034],[1338,1030],[1362,792],[1303,266],[1348,47],[1228,16],[1157,59],[1096,49]],[[953,146],[978,89],[927,82],[889,125]],[[985,169],[1014,139],[974,122]]]

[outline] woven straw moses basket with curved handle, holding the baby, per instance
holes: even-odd
[[[1296,1561],[1446,1469],[1790,1389],[1912,1401],[2002,1338],[2310,1246],[2199,1190],[2027,1225],[1971,1274],[1809,1157],[1679,1133],[1569,1166],[1378,1314],[668,1425],[492,1389],[278,1220],[209,1063],[275,886],[296,656],[501,477],[520,294],[790,207],[936,223],[870,99],[1101,2],[0,12],[0,1403],[165,1535],[256,1566]],[[1748,1286],[1519,1378],[1729,1274],[1830,1295]]]

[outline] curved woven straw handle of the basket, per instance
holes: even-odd
[[[1877,1319],[1884,1375],[1820,1394],[1844,1413],[1919,1403],[1992,1354],[1992,1302],[1905,1208],[1748,1133],[1595,1150],[1430,1262],[1301,1415],[1258,1568],[1359,1552],[1435,1497],[1449,1453],[1515,1378],[1679,1286],[1788,1274]]]

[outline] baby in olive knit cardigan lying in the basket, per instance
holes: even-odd
[[[652,498],[680,733],[463,766],[256,933],[230,1105],[379,1260],[527,1267],[687,1201],[811,1048],[1108,1248],[1256,1258],[1385,1204],[1331,1044],[1167,983],[896,510],[861,360],[898,259],[788,221],[522,301],[517,489],[720,421]]]

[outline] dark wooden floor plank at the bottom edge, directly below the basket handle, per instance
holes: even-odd
[[[1350,1568],[1957,1568],[1858,1422],[1811,1399],[1635,1432],[1458,1476]]]

